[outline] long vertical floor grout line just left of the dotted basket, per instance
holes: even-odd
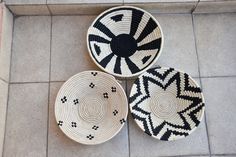
[[[47,144],[46,144],[46,157],[48,157],[48,138],[49,138],[49,105],[50,105],[50,87],[51,87],[51,60],[52,60],[52,16],[51,16],[51,23],[50,23],[50,55],[49,55],[49,84],[48,84],[48,112],[47,112]]]

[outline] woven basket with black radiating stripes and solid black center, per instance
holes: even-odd
[[[150,68],[163,47],[158,21],[130,6],[101,13],[89,27],[87,47],[94,62],[118,77],[134,77]]]

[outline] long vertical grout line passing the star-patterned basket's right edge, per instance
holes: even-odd
[[[192,16],[192,27],[193,27],[193,36],[194,36],[194,44],[195,44],[195,49],[196,49],[196,55],[197,55],[197,62],[198,62],[198,74],[200,77],[200,85],[203,91],[203,84],[202,84],[202,79],[201,79],[201,70],[200,70],[200,60],[199,60],[199,54],[198,54],[198,49],[197,49],[197,39],[196,39],[196,32],[195,32],[195,27],[194,27],[194,17],[193,14],[191,14]],[[207,142],[208,142],[208,150],[209,150],[209,155],[211,157],[211,145],[210,145],[210,137],[209,137],[209,129],[208,129],[208,125],[207,125],[207,115],[206,115],[206,110],[204,113],[204,120],[205,120],[205,127],[206,127],[206,134],[207,134]]]

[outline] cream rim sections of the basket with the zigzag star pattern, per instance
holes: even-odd
[[[154,68],[151,68],[151,69],[158,69],[158,68],[161,68],[161,69],[169,69],[169,68],[171,68],[171,67],[165,67],[165,66],[164,66],[164,67],[154,67]],[[149,69],[149,70],[151,70],[151,69]],[[199,86],[199,84],[197,83],[197,81],[194,80],[188,73],[186,73],[186,72],[184,72],[184,71],[182,71],[182,70],[176,69],[176,68],[173,68],[173,69],[174,69],[175,71],[177,71],[177,72],[180,72],[181,74],[187,74],[187,75],[189,76],[189,78],[193,81],[193,83],[194,83],[197,87],[201,88],[201,86]],[[145,72],[145,73],[146,73],[146,72]],[[142,77],[143,75],[145,75],[145,73],[141,74],[138,78],[135,79],[135,81],[138,80],[138,79],[139,79],[140,77]],[[131,89],[130,89],[129,97],[130,97],[130,95],[131,95],[131,92],[132,92],[133,87],[134,87],[134,84],[132,84],[132,87],[131,87]],[[204,96],[203,96],[203,92],[202,92],[202,91],[201,91],[201,94],[200,94],[200,95],[201,95],[201,98],[202,98],[202,103],[205,104],[205,98],[204,98]],[[130,112],[132,113],[133,110],[132,110],[132,107],[130,106],[130,104],[129,104],[129,110],[130,110]],[[203,120],[204,115],[205,115],[205,105],[204,105],[203,108],[202,108],[201,117],[200,117],[200,119],[199,119],[200,122]],[[132,118],[133,118],[133,117],[132,117]],[[145,130],[144,130],[142,127],[140,127],[140,125],[138,124],[138,122],[137,122],[135,119],[133,119],[133,120],[135,121],[135,124],[136,124],[143,132],[145,132]],[[199,123],[199,125],[200,125],[200,123]],[[194,128],[189,131],[188,136],[191,135],[191,134],[199,127],[199,125],[198,125],[198,126],[194,126]],[[162,140],[159,139],[157,136],[151,136],[151,137],[162,141]],[[187,136],[186,136],[186,137],[187,137]],[[177,139],[172,139],[172,140],[168,140],[168,141],[176,141],[176,140],[184,139],[184,138],[186,138],[186,137],[181,136],[181,137],[179,137],[179,138],[177,138]]]

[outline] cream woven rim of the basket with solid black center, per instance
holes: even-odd
[[[160,50],[157,54],[157,56],[155,57],[155,59],[146,67],[144,68],[143,70],[140,70],[139,72],[137,73],[134,73],[134,74],[130,74],[130,75],[122,75],[122,74],[117,74],[117,73],[114,73],[113,71],[109,71],[107,70],[106,68],[102,67],[93,57],[92,55],[92,52],[89,48],[89,40],[88,40],[88,36],[89,36],[89,29],[90,27],[92,27],[94,25],[94,23],[101,17],[103,16],[105,13],[111,11],[111,10],[114,10],[114,9],[119,9],[119,8],[133,8],[133,9],[137,9],[137,10],[140,10],[146,14],[148,14],[148,16],[150,16],[158,25],[158,28],[160,29],[160,32],[161,32],[161,38],[162,38],[162,41],[161,41],[161,46],[160,46]],[[159,59],[160,55],[162,54],[162,51],[163,51],[163,46],[164,46],[164,34],[163,34],[163,30],[161,28],[161,25],[160,23],[157,21],[157,19],[151,14],[149,13],[148,11],[142,9],[142,8],[139,8],[139,7],[134,7],[134,6],[130,6],[130,5],[124,5],[124,6],[116,6],[116,7],[111,7],[105,11],[103,11],[102,13],[100,13],[92,22],[92,24],[89,26],[88,30],[87,30],[87,35],[86,35],[86,43],[87,43],[87,50],[89,52],[89,55],[90,57],[92,58],[93,62],[100,68],[102,69],[103,71],[113,75],[113,76],[116,76],[116,77],[119,77],[119,78],[133,78],[133,77],[136,77],[142,73],[144,73],[147,69],[149,69],[150,67],[152,67],[156,62],[157,60]]]

